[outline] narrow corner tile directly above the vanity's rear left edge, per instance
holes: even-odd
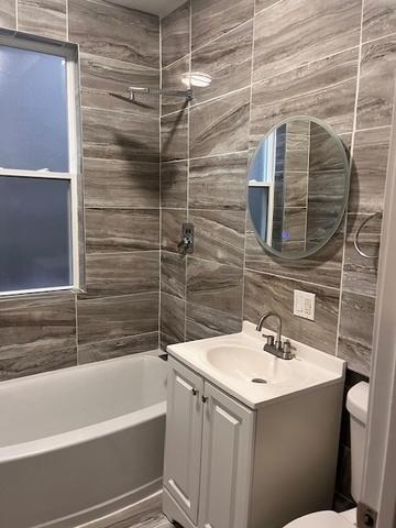
[[[166,344],[185,341],[186,302],[178,297],[161,294],[161,333],[167,336]]]

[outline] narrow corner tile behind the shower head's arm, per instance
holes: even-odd
[[[188,74],[190,70],[189,55],[180,58],[176,63],[167,66],[162,70],[162,87],[173,90],[187,90],[186,85],[183,84],[183,74]],[[162,116],[177,112],[186,109],[187,102],[184,97],[165,95],[162,98]]]

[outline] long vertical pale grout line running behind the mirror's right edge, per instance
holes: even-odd
[[[359,43],[358,72],[356,72],[356,94],[355,94],[355,101],[354,101],[353,130],[352,130],[352,142],[351,142],[351,152],[350,152],[350,176],[351,176],[351,173],[352,173],[352,161],[353,161],[353,154],[354,154],[356,127],[358,127],[360,76],[361,76],[362,47],[363,47],[363,44],[362,44],[362,40],[363,40],[363,19],[364,19],[364,0],[362,0],[362,7],[361,7],[360,43]],[[348,239],[348,218],[349,218],[348,213],[349,213],[349,200],[348,200],[346,210],[345,210],[344,237],[343,237],[343,245],[342,245],[340,299],[339,299],[339,312],[338,312],[337,333],[336,333],[336,356],[337,358],[339,358],[339,353],[340,353],[342,294],[343,294],[343,278],[344,278],[346,239]]]

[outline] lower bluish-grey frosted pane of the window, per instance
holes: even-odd
[[[70,182],[0,176],[0,292],[72,285]]]

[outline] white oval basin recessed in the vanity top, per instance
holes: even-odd
[[[206,352],[206,360],[223,374],[250,383],[284,383],[293,375],[287,361],[254,348],[213,346]]]

